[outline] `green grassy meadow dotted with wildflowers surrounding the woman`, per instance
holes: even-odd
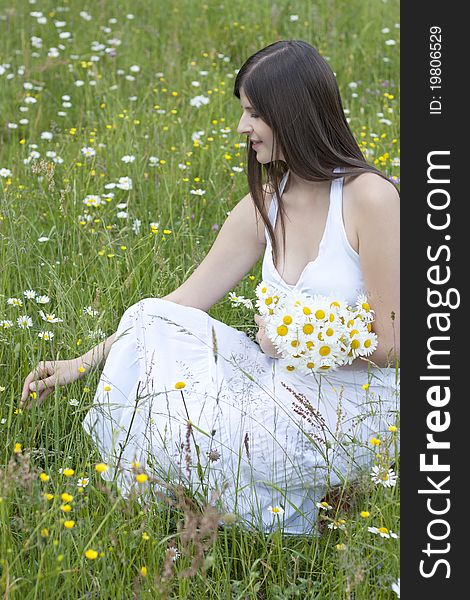
[[[399,597],[395,473],[337,490],[319,536],[263,535],[105,484],[81,427],[98,372],[19,407],[39,361],[84,354],[127,307],[177,288],[247,193],[233,82],[257,49],[316,46],[364,155],[399,183],[399,34],[395,0],[0,0],[5,598]],[[260,275],[261,261],[235,294],[253,298]],[[253,335],[228,295],[209,313]],[[397,472],[389,433],[371,451]]]

